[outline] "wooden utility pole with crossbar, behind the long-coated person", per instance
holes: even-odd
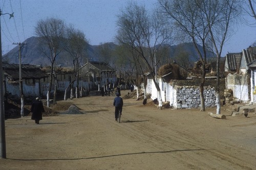
[[[22,81],[22,46],[27,43],[12,43],[18,45],[18,61],[19,61],[19,93],[20,93],[20,115],[24,117],[24,94],[23,94],[23,81]]]

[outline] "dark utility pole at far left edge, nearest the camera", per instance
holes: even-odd
[[[0,16],[9,13],[2,13],[0,9]],[[13,13],[9,14],[10,19]],[[1,18],[1,17],[0,17]],[[2,64],[2,37],[1,37],[1,19],[0,19],[0,158],[6,158],[6,143],[5,143],[5,109],[4,109],[4,88],[3,88],[3,64]]]

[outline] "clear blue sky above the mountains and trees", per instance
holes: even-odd
[[[148,10],[156,6],[157,0],[134,0],[145,4]],[[24,42],[35,35],[39,19],[55,17],[83,31],[91,45],[114,41],[116,15],[130,0],[1,0],[2,13],[14,12],[14,18],[1,16],[2,51],[6,54],[15,47],[13,42]],[[252,20],[252,19],[251,19]],[[256,26],[239,26],[223,47],[227,52],[241,52],[256,41]]]

